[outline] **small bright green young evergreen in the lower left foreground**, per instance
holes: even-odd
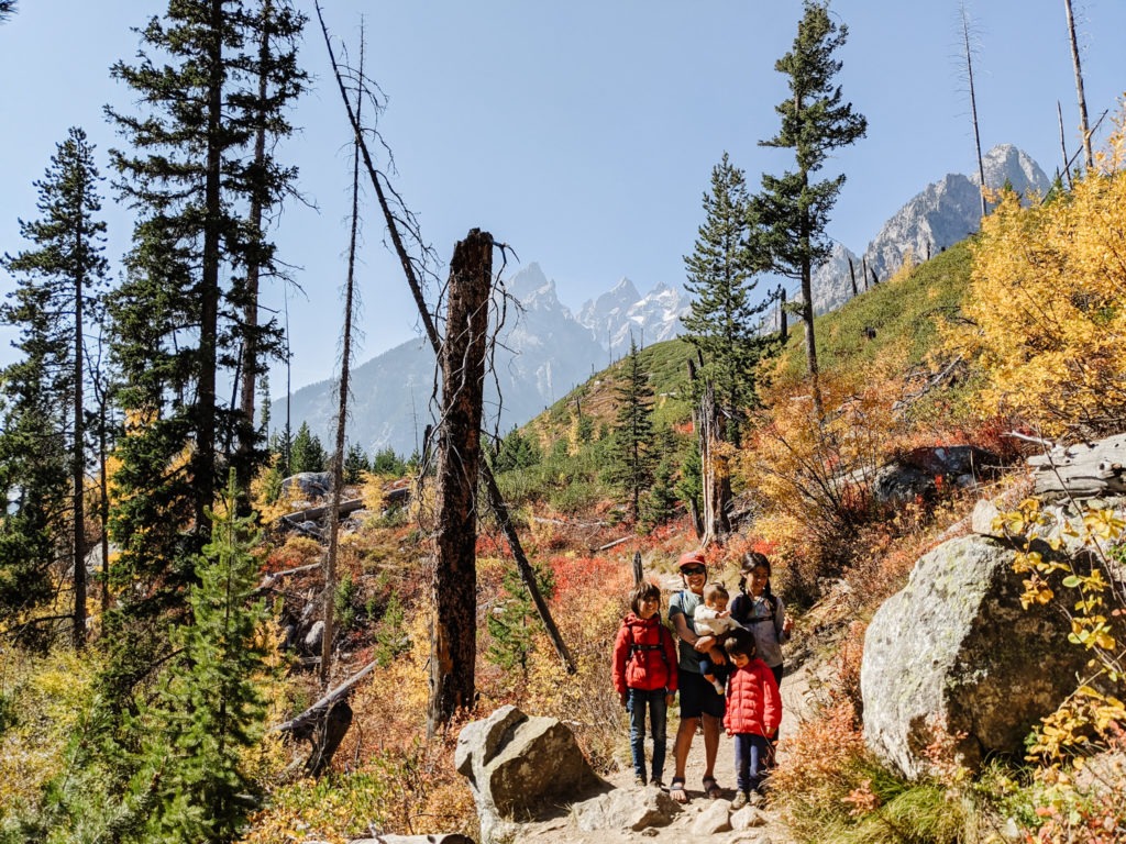
[[[188,596],[191,621],[171,634],[178,658],[149,711],[146,764],[134,780],[149,814],[143,841],[234,841],[254,806],[247,749],[266,720],[257,683],[266,673],[267,611],[250,600],[259,537],[253,518],[234,514],[235,493],[232,483],[224,512],[209,514],[212,540]]]

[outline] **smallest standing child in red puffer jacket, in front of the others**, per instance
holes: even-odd
[[[751,801],[751,792],[761,793],[766,773],[768,736],[781,722],[781,695],[774,672],[759,659],[754,636],[735,630],[723,645],[735,671],[727,680],[727,712],[723,726],[735,738],[735,784],[739,793],[732,801],[740,809]],[[761,798],[757,797],[756,801]]]

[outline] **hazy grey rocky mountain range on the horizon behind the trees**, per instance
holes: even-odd
[[[985,183],[1008,183],[1021,195],[1044,195],[1044,171],[1011,144],[984,156]],[[840,307],[857,291],[891,277],[911,253],[926,260],[977,231],[981,194],[976,174],[948,173],[912,197],[884,224],[858,257],[833,244],[829,260],[813,276],[819,314]],[[851,263],[851,267],[850,267]],[[865,284],[867,273],[867,285]],[[689,307],[687,294],[660,284],[641,295],[628,278],[590,299],[578,314],[563,305],[555,282],[537,263],[513,273],[504,289],[521,304],[509,308],[498,332],[494,377],[485,388],[488,427],[500,434],[540,413],[577,384],[622,358],[631,339],[638,347],[677,336]],[[776,322],[770,320],[768,322]],[[428,342],[409,341],[354,369],[349,441],[369,454],[392,448],[401,456],[420,450],[426,427],[437,415],[435,358]],[[323,380],[293,394],[293,429],[307,422],[329,442],[336,390]],[[274,419],[285,419],[285,397],[274,399]]]

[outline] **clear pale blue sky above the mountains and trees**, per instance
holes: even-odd
[[[1126,90],[1121,0],[1073,0],[1092,120]],[[160,14],[151,0],[23,0],[0,26],[0,250],[24,246],[17,218],[35,216],[42,177],[68,127],[105,152],[118,143],[107,102],[128,108],[108,68],[138,42],[131,27]],[[312,2],[303,3],[312,15]],[[355,50],[360,16],[368,69],[387,96],[379,127],[395,185],[443,260],[472,227],[536,261],[573,309],[628,276],[644,293],[683,280],[682,257],[700,199],[724,151],[753,189],[789,164],[758,146],[777,131],[799,0],[324,0],[337,37]],[[850,30],[839,75],[868,135],[830,162],[848,182],[829,233],[860,252],[883,222],[928,182],[974,169],[956,0],[835,0]],[[1060,0],[967,2],[977,53],[982,144],[1013,143],[1051,176],[1078,145],[1074,77]],[[315,20],[303,52],[315,77],[296,108],[301,134],[280,151],[301,168],[315,207],[291,205],[276,239],[304,293],[291,290],[293,384],[330,377],[338,359],[339,288],[347,245],[348,126]],[[1100,133],[1105,134],[1105,133]],[[374,198],[373,198],[374,199]],[[106,187],[108,257],[127,249],[132,219]],[[359,270],[359,360],[417,335],[413,302],[366,210]],[[443,273],[444,275],[444,273]],[[12,280],[0,271],[0,291]],[[276,306],[280,290],[270,293]],[[14,352],[0,333],[0,363]],[[284,384],[272,376],[272,393]]]

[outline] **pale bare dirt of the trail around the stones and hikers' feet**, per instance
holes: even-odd
[[[792,735],[806,713],[806,695],[808,683],[806,672],[799,668],[786,675],[781,683],[783,721],[780,735],[785,738]],[[676,706],[670,711],[669,722],[669,756],[664,767],[664,779],[672,779],[672,737],[677,731],[678,720],[673,716]],[[646,748],[646,755],[649,751]],[[720,752],[716,757],[715,775],[723,789],[723,799],[735,797],[735,760],[734,745],[726,736],[720,739]],[[793,844],[793,837],[770,808],[769,801],[762,807],[767,818],[765,826],[741,832],[723,832],[714,835],[701,835],[692,832],[697,819],[708,809],[713,801],[704,794],[701,779],[704,776],[704,737],[697,734],[686,765],[687,791],[689,802],[683,807],[671,824],[664,827],[650,827],[641,832],[631,829],[599,829],[581,832],[570,824],[569,815],[560,815],[549,820],[528,824],[521,828],[515,844],[624,844],[625,842],[658,842],[658,844]],[[633,770],[626,764],[623,770],[607,778],[616,789],[641,792],[633,782]]]

